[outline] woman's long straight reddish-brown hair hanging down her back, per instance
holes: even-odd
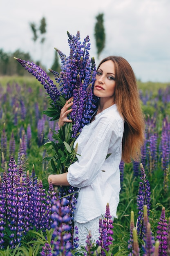
[[[121,56],[104,58],[98,67],[109,60],[112,60],[115,65],[115,103],[125,120],[122,160],[126,163],[131,162],[132,159],[138,161],[141,156],[141,146],[145,140],[145,121],[141,110],[136,78],[128,61]]]

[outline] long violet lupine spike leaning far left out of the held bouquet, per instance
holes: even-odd
[[[56,104],[56,101],[58,100],[58,97],[60,95],[58,89],[56,88],[56,85],[54,85],[53,81],[50,79],[50,77],[46,74],[42,68],[40,68],[38,65],[34,64],[33,62],[21,60],[19,58],[15,58],[22,67],[25,67],[25,69],[31,73],[33,76],[38,79],[38,81],[41,82],[41,84],[46,89],[47,93],[49,94],[49,97],[52,99],[54,104]]]

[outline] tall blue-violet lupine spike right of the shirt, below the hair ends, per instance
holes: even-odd
[[[141,166],[141,177],[140,179],[142,182],[139,182],[139,194],[137,197],[137,205],[138,205],[138,224],[137,224],[137,231],[140,237],[143,237],[144,233],[144,222],[143,222],[143,209],[144,205],[147,206],[147,212],[149,216],[149,210],[150,210],[150,183],[148,180],[146,180],[145,170],[143,168],[143,165]]]

